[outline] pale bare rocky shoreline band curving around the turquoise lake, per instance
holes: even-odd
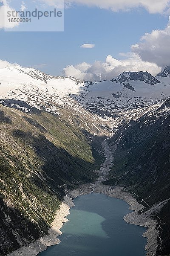
[[[147,232],[143,234],[147,238],[147,256],[155,256],[156,248],[158,246],[159,231],[156,230],[157,221],[143,213],[139,215],[137,212],[144,208],[142,204],[130,195],[128,192],[122,191],[122,187],[103,185],[100,182],[88,183],[80,186],[78,189],[74,189],[65,196],[60,209],[57,211],[54,221],[51,224],[51,228],[48,230],[48,236],[43,236],[37,241],[31,243],[29,246],[21,247],[20,249],[9,253],[7,256],[36,256],[38,253],[47,249],[48,246],[59,244],[60,240],[57,236],[61,235],[60,231],[64,222],[68,221],[66,216],[69,215],[69,210],[74,206],[73,200],[79,195],[89,194],[91,192],[103,193],[109,197],[123,199],[129,204],[129,209],[134,210],[124,217],[127,223],[147,227]]]

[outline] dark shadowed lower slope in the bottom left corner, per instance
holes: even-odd
[[[42,225],[42,223],[41,223]],[[48,229],[44,223],[44,230],[38,223],[31,223],[17,210],[7,207],[0,198],[0,256],[17,250],[21,244],[28,246],[31,241],[43,236],[43,231]]]

